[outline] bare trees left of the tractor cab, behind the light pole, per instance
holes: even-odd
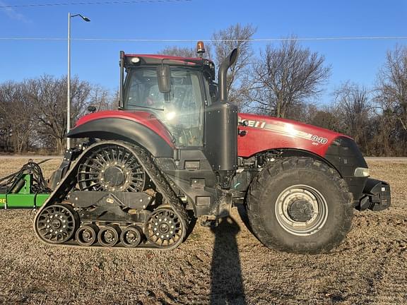
[[[87,112],[112,109],[117,95],[78,77],[71,79],[71,122]],[[66,77],[43,75],[0,84],[0,151],[62,154],[66,147]]]

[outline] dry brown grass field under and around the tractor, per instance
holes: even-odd
[[[25,162],[1,160],[0,176]],[[45,175],[57,165],[42,165]],[[407,163],[370,167],[391,184],[391,208],[356,212],[346,241],[316,256],[266,249],[237,208],[214,232],[196,225],[174,251],[49,247],[33,212],[1,210],[0,303],[407,304]]]

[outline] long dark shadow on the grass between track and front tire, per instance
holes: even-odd
[[[240,226],[232,217],[222,218],[215,234],[211,264],[211,305],[247,304],[236,236]]]

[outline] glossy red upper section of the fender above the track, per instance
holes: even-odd
[[[105,119],[105,118],[117,118],[117,119],[127,119],[130,121],[134,121],[138,124],[144,125],[150,128],[152,131],[157,133],[161,138],[165,140],[172,148],[175,148],[174,143],[172,143],[171,135],[167,131],[167,128],[161,123],[157,117],[155,117],[150,112],[129,112],[129,111],[121,111],[121,110],[107,110],[101,112],[95,112],[92,114],[87,114],[82,116],[81,119],[78,120],[76,126],[88,123],[89,121],[94,121],[97,119]]]

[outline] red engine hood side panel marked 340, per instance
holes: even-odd
[[[245,136],[237,139],[240,157],[250,157],[273,148],[308,150],[324,156],[332,141],[343,136],[328,129],[271,116],[239,114],[239,121],[247,121],[248,124],[239,127],[240,131],[247,131]]]

